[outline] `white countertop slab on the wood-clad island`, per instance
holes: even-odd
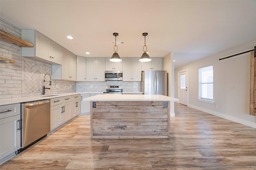
[[[159,94],[98,94],[96,96],[84,98],[83,101],[178,101],[178,99]]]

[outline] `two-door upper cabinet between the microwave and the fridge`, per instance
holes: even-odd
[[[123,58],[123,81],[141,81],[140,58]]]

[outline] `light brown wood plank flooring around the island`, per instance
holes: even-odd
[[[90,139],[90,115],[84,115],[0,169],[256,170],[256,129],[174,108],[169,139]]]

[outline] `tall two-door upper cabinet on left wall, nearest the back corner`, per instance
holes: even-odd
[[[76,81],[76,55],[62,48],[62,65],[52,65],[52,79]]]

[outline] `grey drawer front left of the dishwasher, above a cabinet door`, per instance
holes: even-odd
[[[20,115],[20,104],[10,104],[1,106],[0,108],[0,119]]]

